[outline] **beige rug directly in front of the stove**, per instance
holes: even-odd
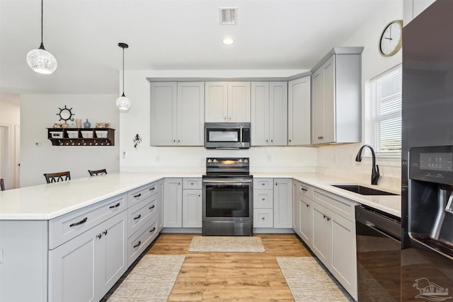
[[[189,252],[265,252],[260,237],[195,236]]]

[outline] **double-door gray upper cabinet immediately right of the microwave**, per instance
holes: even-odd
[[[252,146],[287,145],[287,82],[251,83]]]

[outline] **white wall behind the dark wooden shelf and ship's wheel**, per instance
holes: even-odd
[[[45,183],[43,173],[69,170],[71,178],[88,177],[88,169],[120,170],[118,95],[21,95],[21,187]],[[72,108],[74,118],[91,127],[110,122],[115,146],[52,146],[47,127],[59,122],[59,108]],[[36,143],[40,146],[36,146]]]

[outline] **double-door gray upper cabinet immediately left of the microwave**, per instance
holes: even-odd
[[[151,82],[151,146],[203,146],[205,83]]]

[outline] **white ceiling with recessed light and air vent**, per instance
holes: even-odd
[[[311,69],[394,0],[44,0],[54,74],[25,60],[40,45],[40,0],[0,0],[0,92],[118,93],[125,69]],[[237,7],[237,25],[219,8]],[[234,45],[222,45],[222,37]],[[360,46],[360,45],[348,45]]]

